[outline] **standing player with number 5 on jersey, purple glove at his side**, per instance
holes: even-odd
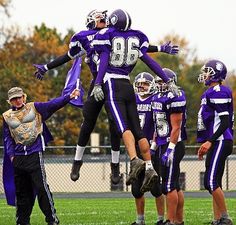
[[[173,83],[176,74],[163,69]],[[185,154],[186,98],[183,90],[176,96],[159,77],[156,78],[157,94],[153,96],[152,110],[155,120],[156,143],[161,163],[162,193],[166,195],[167,221],[165,224],[183,225],[184,195],[180,189],[180,161]]]

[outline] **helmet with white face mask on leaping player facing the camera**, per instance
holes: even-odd
[[[86,17],[85,25],[89,30],[93,30],[97,27],[97,22],[107,23],[107,10],[92,10]]]

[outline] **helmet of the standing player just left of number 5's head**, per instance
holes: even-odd
[[[155,91],[154,77],[150,73],[147,73],[147,72],[139,73],[134,78],[133,87],[134,87],[135,93],[140,96],[150,95],[154,93]]]

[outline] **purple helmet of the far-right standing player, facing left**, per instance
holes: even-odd
[[[219,60],[210,60],[202,67],[201,72],[198,75],[198,82],[205,83],[208,86],[212,82],[221,82],[224,80],[227,75],[227,68]]]

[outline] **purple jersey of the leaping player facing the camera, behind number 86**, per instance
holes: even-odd
[[[94,78],[97,76],[98,55],[95,54],[94,49],[91,47],[91,42],[98,31],[98,29],[84,30],[74,34],[70,40],[68,51],[68,55],[71,58],[81,55],[84,51],[86,52],[86,62]]]

